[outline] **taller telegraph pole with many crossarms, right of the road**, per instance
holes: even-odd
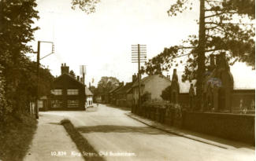
[[[132,45],[132,63],[138,63],[138,82],[139,82],[139,99],[138,106],[140,107],[140,63],[147,60],[147,46],[146,45]]]

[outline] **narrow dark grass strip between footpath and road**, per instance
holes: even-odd
[[[72,141],[76,144],[76,147],[81,152],[84,160],[89,161],[103,161],[105,159],[102,158],[102,156],[98,156],[98,152],[95,151],[95,148],[93,148],[86,138],[84,138],[72,125],[69,119],[63,119],[61,120],[61,125],[65,127],[65,130],[68,132],[70,137],[72,138]],[[83,155],[84,152],[90,153],[91,155]]]

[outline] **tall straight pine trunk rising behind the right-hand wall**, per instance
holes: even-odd
[[[197,95],[197,106],[203,110],[202,104],[202,82],[206,73],[206,26],[205,26],[205,0],[200,0],[200,17],[199,17],[199,39],[198,39],[198,70],[197,70],[197,82],[196,82],[196,95]]]

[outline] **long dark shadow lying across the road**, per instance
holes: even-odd
[[[80,126],[76,130],[81,133],[133,133],[133,134],[150,134],[158,135],[165,134],[173,136],[173,134],[167,134],[161,130],[155,130],[148,126],[115,126],[115,125],[99,125],[99,126]]]

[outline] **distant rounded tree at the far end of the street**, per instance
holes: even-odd
[[[114,87],[119,85],[119,80],[114,77],[103,76],[98,82],[98,93],[108,93]]]

